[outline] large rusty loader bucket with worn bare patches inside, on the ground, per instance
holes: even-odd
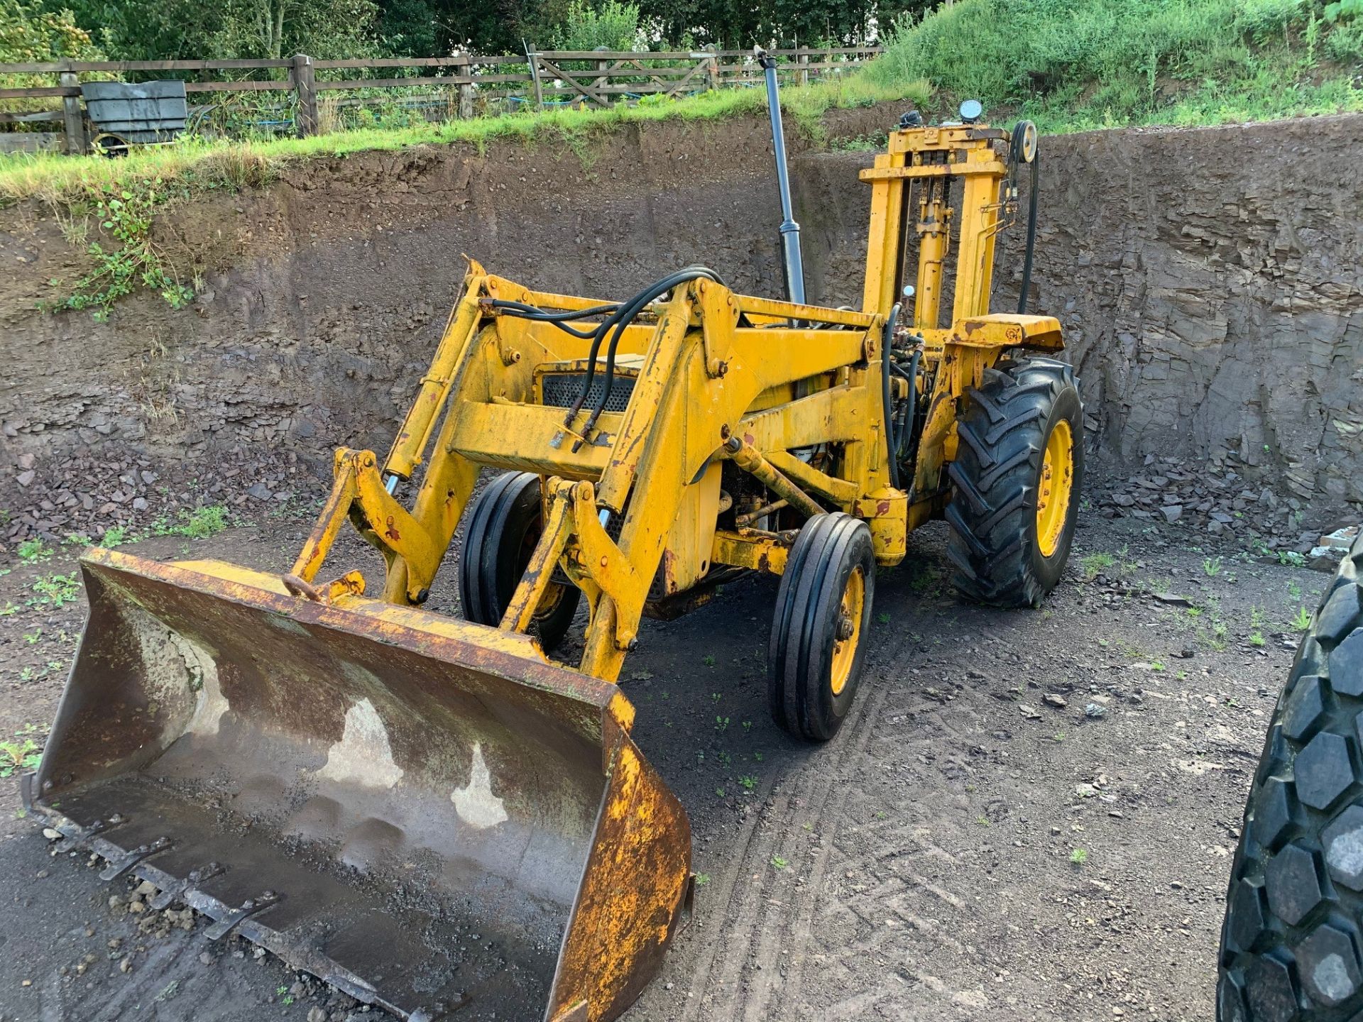
[[[25,801],[71,848],[403,1018],[611,1019],[690,894],[620,691],[532,639],[109,551]]]

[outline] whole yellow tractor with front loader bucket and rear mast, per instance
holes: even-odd
[[[1060,576],[1082,471],[1074,377],[1041,357],[1060,324],[988,309],[1036,132],[979,117],[906,114],[861,172],[860,309],[803,303],[780,150],[799,301],[703,267],[552,294],[470,262],[393,448],[337,451],[289,574],[83,559],[26,804],[105,879],[403,1018],[616,1018],[691,898],[687,815],[616,685],[645,616],[780,575],[771,715],[826,740],[909,530],[946,518],[972,598],[1036,605]],[[323,574],[346,521],[382,572]],[[461,521],[463,620],[421,609]]]

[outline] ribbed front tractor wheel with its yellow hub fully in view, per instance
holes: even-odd
[[[852,707],[875,594],[866,522],[815,515],[795,538],[767,651],[771,718],[796,737],[831,739]]]

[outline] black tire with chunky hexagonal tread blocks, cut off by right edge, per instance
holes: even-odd
[[[1220,1022],[1363,1011],[1363,538],[1325,591],[1278,696],[1221,927]]]

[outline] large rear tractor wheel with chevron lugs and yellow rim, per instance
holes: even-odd
[[[1074,369],[1054,358],[985,369],[957,436],[946,511],[953,583],[981,604],[1037,606],[1065,571],[1084,481]]]

